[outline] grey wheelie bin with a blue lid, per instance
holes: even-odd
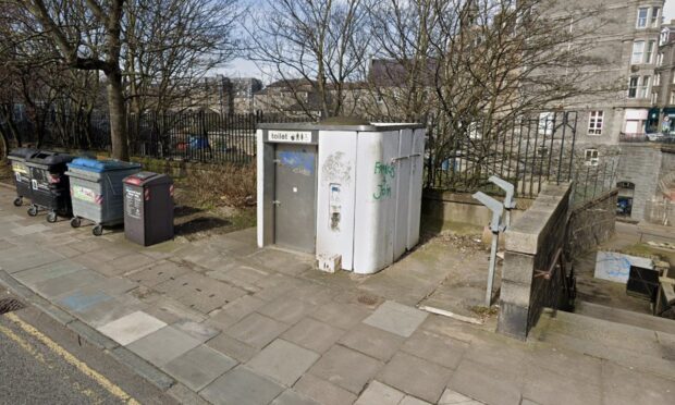
[[[77,158],[68,163],[65,174],[71,182],[73,219],[78,228],[82,220],[95,223],[91,233],[100,236],[103,226],[124,222],[122,180],[140,171],[140,164],[119,160]]]

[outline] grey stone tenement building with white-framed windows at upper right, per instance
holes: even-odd
[[[590,169],[611,170],[622,210],[642,220],[647,201],[654,197],[655,184],[663,175],[661,162],[668,160],[661,148],[647,144],[646,136],[658,125],[653,105],[659,101],[660,86],[673,82],[660,72],[665,63],[660,46],[664,1],[572,0],[559,4],[565,9],[559,8],[559,17],[578,20],[577,29],[589,33],[580,39],[588,41],[588,56],[600,63],[582,70],[591,74],[591,85],[604,89],[567,100],[565,109],[578,111],[575,154]],[[582,13],[590,10],[596,10],[594,14],[585,19]],[[574,23],[570,29],[575,29]]]

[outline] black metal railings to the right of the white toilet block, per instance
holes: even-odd
[[[575,173],[576,112],[542,113],[464,127],[428,126],[427,187],[499,193],[498,175],[516,185],[519,197],[535,197],[548,181],[569,182]]]

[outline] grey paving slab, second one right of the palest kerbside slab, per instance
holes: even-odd
[[[198,392],[238,363],[208,346],[199,345],[169,361],[163,369],[191,390]]]

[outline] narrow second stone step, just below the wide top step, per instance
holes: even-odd
[[[604,305],[587,302],[577,302],[575,314],[596,319],[602,319],[615,323],[630,324],[653,331],[675,334],[675,321],[654,317],[648,314],[639,314],[631,310],[617,309]]]

